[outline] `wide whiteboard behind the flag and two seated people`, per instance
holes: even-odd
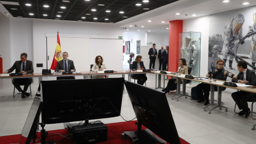
[[[57,45],[57,37],[47,37],[47,69],[50,69]],[[102,38],[60,37],[62,52],[74,61],[76,71],[89,71],[95,57],[101,55],[109,70],[123,70],[123,40]]]

